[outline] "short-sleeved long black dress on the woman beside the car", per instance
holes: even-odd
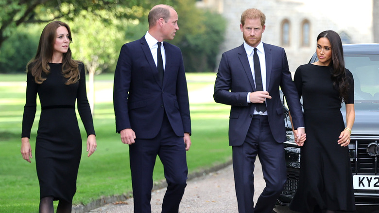
[[[290,205],[297,212],[355,211],[348,147],[337,142],[345,123],[331,69],[306,64],[294,76],[299,97],[303,96],[307,133],[301,147],[299,184]],[[354,80],[347,69],[346,77],[350,84],[346,103],[354,104]]]

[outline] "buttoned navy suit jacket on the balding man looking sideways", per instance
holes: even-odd
[[[132,128],[138,139],[154,138],[166,112],[177,136],[191,133],[182,53],[167,42],[164,49],[166,66],[161,85],[145,36],[122,46],[113,90],[117,132]]]

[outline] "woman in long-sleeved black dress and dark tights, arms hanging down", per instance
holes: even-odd
[[[27,66],[26,104],[22,120],[21,154],[31,162],[30,131],[36,111],[41,115],[35,143],[35,164],[40,186],[40,213],[70,213],[82,154],[82,138],[75,102],[87,133],[88,157],[96,150],[95,130],[86,96],[83,63],[71,58],[70,28],[53,21],[42,31],[37,53]]]

